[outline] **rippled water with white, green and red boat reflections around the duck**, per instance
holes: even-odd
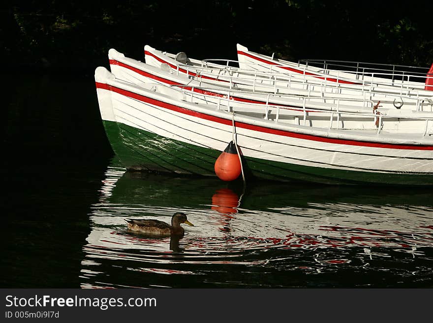
[[[345,272],[358,275],[350,286],[370,286],[371,273],[388,277],[383,284],[432,281],[427,197],[411,205],[377,194],[369,199],[365,192],[330,199],[324,191],[318,198],[306,189],[290,200],[282,186],[270,198],[260,186],[245,195],[220,186],[109,169],[90,214],[82,287],[347,287],[332,276]],[[125,226],[124,218],[170,222],[179,211],[195,225],[182,238],[144,236]],[[291,281],[279,278],[287,273]],[[316,278],[302,280],[300,273]],[[163,278],[170,276],[182,279]]]

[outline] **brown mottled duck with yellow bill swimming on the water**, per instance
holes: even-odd
[[[125,221],[128,223],[129,230],[149,235],[184,235],[184,228],[181,227],[181,223],[185,223],[191,227],[194,226],[186,219],[185,213],[181,212],[173,214],[171,225],[163,221],[148,219],[125,219]]]

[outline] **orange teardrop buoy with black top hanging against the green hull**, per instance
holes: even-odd
[[[215,174],[219,179],[230,181],[241,174],[241,161],[233,141],[227,145],[215,162]]]

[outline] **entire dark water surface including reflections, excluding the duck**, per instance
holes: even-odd
[[[1,287],[433,287],[430,188],[125,172],[92,74],[9,78]],[[176,211],[181,239],[126,230]]]

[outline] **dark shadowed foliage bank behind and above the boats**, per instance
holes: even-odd
[[[197,59],[250,50],[298,60],[341,59],[430,67],[433,1],[182,0],[7,1],[3,70],[91,71],[115,48]]]

